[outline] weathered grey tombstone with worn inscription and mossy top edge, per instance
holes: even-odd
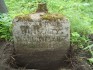
[[[61,14],[43,11],[13,20],[14,58],[20,67],[43,70],[59,67],[69,49],[68,20]]]

